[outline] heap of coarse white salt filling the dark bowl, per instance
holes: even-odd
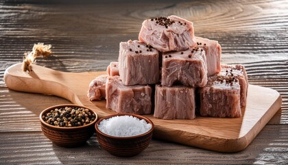
[[[107,135],[116,137],[130,137],[146,133],[152,124],[132,115],[119,115],[102,120],[98,125],[99,130]]]

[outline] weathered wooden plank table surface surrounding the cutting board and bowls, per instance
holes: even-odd
[[[217,153],[152,140],[130,158],[106,153],[95,138],[62,148],[40,129],[43,109],[70,103],[12,91],[5,69],[34,43],[53,45],[37,64],[64,72],[101,71],[117,61],[119,42],[137,39],[144,19],[176,14],[195,35],[219,41],[221,63],[242,63],[250,84],[276,89],[281,109],[239,153]],[[288,1],[37,1],[0,0],[0,164],[288,164]],[[86,87],[84,87],[86,88]]]

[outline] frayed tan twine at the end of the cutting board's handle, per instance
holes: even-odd
[[[24,72],[31,72],[32,67],[31,64],[34,63],[34,59],[38,58],[39,56],[47,57],[50,56],[51,52],[51,45],[44,45],[44,43],[37,43],[34,44],[32,52],[25,53],[25,58],[23,59],[22,69]]]

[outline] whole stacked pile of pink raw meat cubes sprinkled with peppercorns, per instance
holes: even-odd
[[[193,23],[176,16],[147,19],[139,41],[120,43],[119,62],[93,80],[88,98],[106,98],[117,113],[155,118],[236,118],[245,107],[243,65],[220,64],[217,41],[194,36]]]

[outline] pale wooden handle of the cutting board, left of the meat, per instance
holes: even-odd
[[[47,94],[66,98],[74,104],[83,105],[77,94],[67,84],[66,72],[32,65],[32,72],[23,72],[22,63],[8,67],[4,73],[4,81],[9,89],[29,93]]]

